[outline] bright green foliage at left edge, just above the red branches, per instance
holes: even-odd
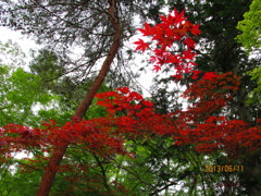
[[[47,105],[53,99],[53,96],[42,90],[40,77],[25,72],[22,68],[11,75],[8,75],[5,70],[1,76],[5,77],[1,84],[1,124],[28,123],[34,117],[35,106]]]

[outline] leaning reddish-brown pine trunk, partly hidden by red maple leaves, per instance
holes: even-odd
[[[112,61],[117,52],[117,49],[120,48],[122,30],[121,30],[120,21],[116,17],[116,0],[108,0],[108,1],[110,3],[108,14],[109,14],[110,22],[113,24],[113,28],[114,28],[113,42],[110,47],[109,53],[101,66],[101,70],[100,70],[98,76],[94,81],[91,87],[86,93],[84,100],[78,106],[77,110],[75,111],[75,117],[78,119],[82,119],[85,115],[86,111],[88,110],[91,101],[94,100],[96,93],[98,91],[99,87],[103,83],[103,81],[110,70],[110,65],[112,64]],[[54,148],[54,150],[50,157],[49,164],[47,166],[45,173],[41,177],[41,182],[40,182],[39,188],[36,194],[37,196],[48,196],[49,195],[49,192],[52,187],[60,162],[62,161],[63,156],[64,156],[69,145],[70,145],[70,143],[67,143],[63,147]]]

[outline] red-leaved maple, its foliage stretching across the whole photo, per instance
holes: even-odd
[[[91,120],[75,117],[63,126],[58,126],[55,121],[50,120],[37,128],[16,124],[2,127],[1,160],[7,161],[15,151],[30,151],[35,148],[49,154],[69,145],[82,146],[82,149],[101,157],[123,155],[134,158],[135,155],[124,147],[125,143],[140,138],[150,140],[157,135],[172,138],[174,146],[188,145],[202,154],[220,150],[237,157],[238,151],[244,156],[244,152],[252,152],[260,147],[260,120],[252,126],[243,120],[226,117],[240,78],[232,72],[202,73],[197,70],[192,36],[200,34],[199,25],[188,22],[184,11],[178,13],[174,10],[167,16],[161,15],[161,23],[154,26],[146,23],[139,30],[144,36],[151,37],[151,41],[139,39],[135,42],[136,50],[152,51],[150,60],[154,64],[154,71],[159,72],[167,65],[174,68],[175,81],[182,81],[185,75],[194,79],[183,95],[191,102],[187,110],[159,114],[153,102],[128,87],[121,87],[115,91],[96,95],[97,105],[107,109],[107,117]],[[47,159],[35,157],[28,161],[29,166],[36,168],[37,163]],[[52,168],[61,172],[78,173],[85,169],[85,166],[71,164]],[[22,171],[29,172],[28,168]],[[69,181],[80,182],[80,177],[79,174],[69,177]],[[127,192],[121,184],[114,184],[115,189]],[[107,192],[113,193],[109,187]]]

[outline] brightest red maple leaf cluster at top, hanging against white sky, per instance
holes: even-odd
[[[153,62],[153,70],[159,72],[164,64],[167,64],[175,70],[176,79],[183,78],[183,74],[189,74],[192,72],[192,68],[196,65],[192,61],[196,56],[195,45],[196,41],[190,35],[198,36],[200,34],[199,25],[194,25],[187,21],[184,16],[184,11],[178,13],[174,9],[173,14],[167,16],[160,15],[161,23],[154,26],[150,26],[145,23],[144,28],[139,28],[139,32],[144,36],[151,37],[151,42],[145,42],[142,39],[134,42],[138,45],[136,50],[150,49],[152,45],[153,56],[150,60]],[[178,51],[177,46],[183,44],[185,50]]]

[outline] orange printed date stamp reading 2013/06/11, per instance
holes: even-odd
[[[204,166],[204,172],[244,172],[244,166]]]

